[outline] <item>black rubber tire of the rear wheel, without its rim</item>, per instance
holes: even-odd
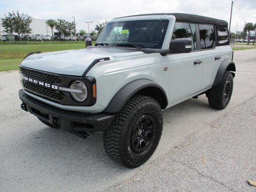
[[[228,95],[228,98],[224,100],[224,89],[226,86],[226,83],[230,83],[230,93]],[[212,87],[206,92],[206,96],[208,97],[209,105],[212,108],[215,109],[224,109],[226,106],[228,106],[228,103],[230,101],[230,98],[232,96],[233,91],[233,76],[231,72],[225,71],[221,82],[218,84],[218,86]]]

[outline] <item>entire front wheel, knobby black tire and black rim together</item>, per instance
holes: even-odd
[[[112,160],[128,168],[136,168],[156,150],[162,128],[160,104],[148,96],[134,95],[104,132],[105,151]]]

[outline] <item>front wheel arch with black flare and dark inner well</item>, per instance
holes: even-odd
[[[166,92],[160,85],[152,80],[139,79],[123,86],[110,100],[104,112],[116,113],[120,111],[128,99],[134,94],[141,94],[154,98],[159,102],[162,109],[165,109],[168,104]]]

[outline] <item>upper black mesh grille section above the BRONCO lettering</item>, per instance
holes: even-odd
[[[45,83],[50,83],[55,85],[62,82],[59,76],[56,76],[53,74],[46,74],[46,73],[42,73],[34,70],[25,69],[25,68],[20,68],[20,72],[23,74],[23,76],[36,79],[38,81],[42,81]]]

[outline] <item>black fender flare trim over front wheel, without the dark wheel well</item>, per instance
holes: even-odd
[[[156,84],[152,80],[138,79],[123,86],[110,100],[108,106],[105,108],[103,112],[116,113],[120,111],[129,98],[131,98],[134,94],[136,94],[136,92],[147,87],[155,87],[160,89],[164,94],[164,97],[166,99],[165,105],[167,106],[168,98],[167,98],[166,92],[160,85]],[[166,108],[166,106],[164,106],[164,108]]]

